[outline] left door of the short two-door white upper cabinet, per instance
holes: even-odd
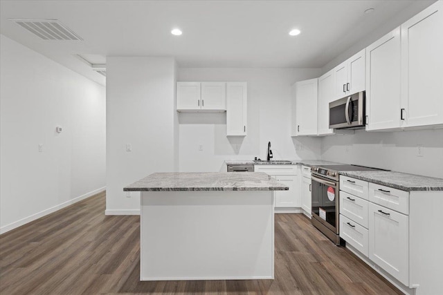
[[[177,82],[177,110],[200,109],[200,82]]]

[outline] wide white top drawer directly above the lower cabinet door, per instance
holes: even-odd
[[[380,184],[369,184],[369,200],[386,208],[409,214],[409,192]]]

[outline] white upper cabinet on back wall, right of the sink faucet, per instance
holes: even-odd
[[[295,135],[317,135],[317,96],[317,78],[296,82]]]

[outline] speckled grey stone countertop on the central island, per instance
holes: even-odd
[[[153,173],[123,191],[287,191],[287,185],[262,172]]]

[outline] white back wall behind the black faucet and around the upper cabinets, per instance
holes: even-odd
[[[226,113],[179,114],[180,171],[221,171],[224,160],[265,160],[269,141],[275,160],[319,159],[319,138],[291,138],[291,85],[319,74],[317,68],[179,68],[178,81],[248,83],[246,137],[226,137]]]

